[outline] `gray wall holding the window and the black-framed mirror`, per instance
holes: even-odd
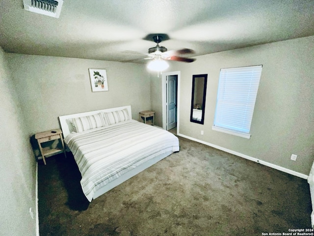
[[[181,71],[180,133],[308,175],[314,160],[313,45],[311,36],[199,56],[189,64],[173,63],[168,71]],[[261,64],[251,139],[213,131],[220,69]],[[192,75],[203,73],[208,74],[208,84],[201,125],[189,119]],[[160,107],[161,95],[153,102]],[[292,153],[298,155],[295,162],[290,160]]]

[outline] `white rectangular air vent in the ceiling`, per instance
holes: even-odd
[[[23,0],[26,11],[59,18],[63,0]]]

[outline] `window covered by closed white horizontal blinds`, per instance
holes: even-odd
[[[220,70],[213,130],[249,139],[262,65]]]

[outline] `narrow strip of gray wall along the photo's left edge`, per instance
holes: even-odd
[[[34,236],[36,162],[14,83],[0,47],[0,235]]]

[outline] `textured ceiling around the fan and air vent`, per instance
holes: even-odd
[[[314,35],[314,0],[64,0],[58,19],[0,2],[6,52],[144,62],[163,33],[188,56]]]

